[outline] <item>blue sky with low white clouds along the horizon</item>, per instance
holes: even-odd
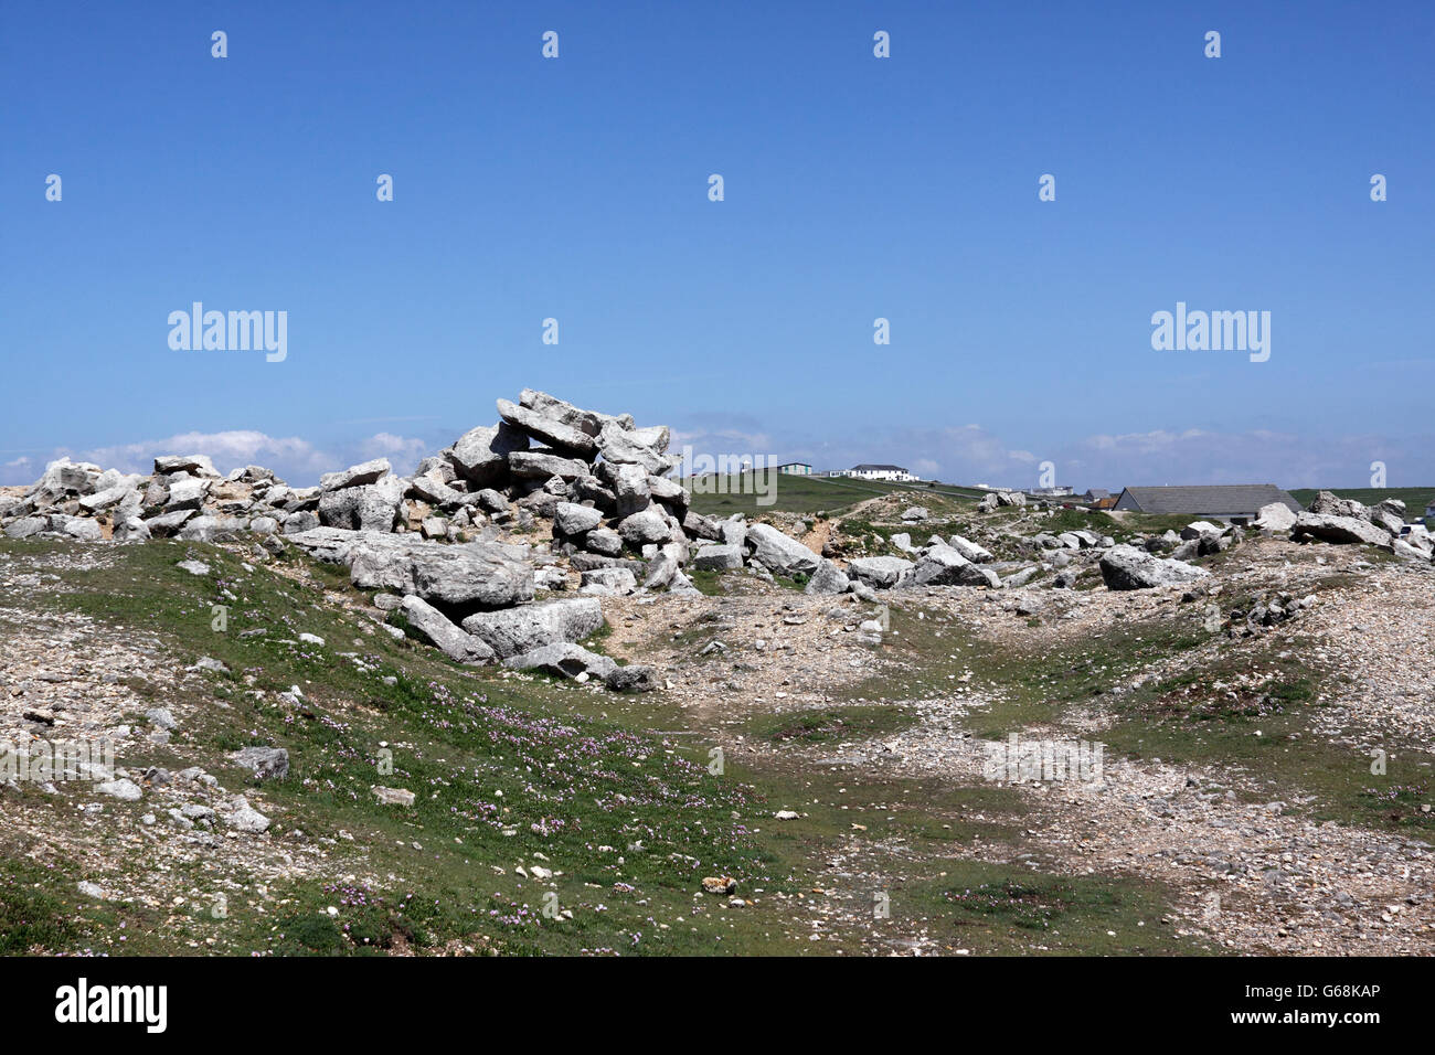
[[[412,464],[524,386],[819,468],[1435,481],[1431,4],[0,19],[0,484]],[[287,359],[172,350],[195,300],[287,311]],[[1269,362],[1152,350],[1177,301],[1270,311]]]

